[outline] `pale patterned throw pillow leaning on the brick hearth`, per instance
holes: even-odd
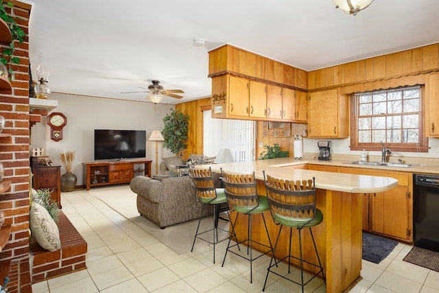
[[[29,211],[29,228],[40,246],[49,251],[61,248],[60,231],[49,212],[37,202],[32,202]]]

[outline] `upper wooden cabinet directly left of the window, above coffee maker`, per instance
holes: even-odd
[[[348,96],[338,89],[309,94],[308,137],[349,137]]]

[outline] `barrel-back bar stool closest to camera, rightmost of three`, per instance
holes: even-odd
[[[280,228],[276,238],[276,244],[274,244],[274,253],[270,261],[270,266],[268,267],[267,277],[265,277],[265,283],[263,285],[262,291],[265,290],[268,274],[270,274],[270,272],[272,272],[273,274],[277,274],[283,279],[287,279],[289,281],[292,281],[293,283],[300,285],[302,287],[302,292],[304,292],[305,285],[307,285],[309,281],[314,279],[314,277],[316,277],[320,273],[322,274],[324,283],[326,284],[322,263],[320,262],[320,257],[317,251],[316,241],[314,240],[313,231],[311,230],[311,227],[317,226],[323,221],[322,211],[316,208],[316,178],[313,177],[312,180],[283,180],[274,178],[270,175],[267,175],[265,178],[265,171],[263,171],[263,177],[265,181],[265,189],[267,191],[270,213],[272,215],[274,223],[276,225],[280,225]],[[274,256],[274,254],[276,253],[279,236],[281,235],[283,226],[289,227],[289,254],[283,259],[276,261],[276,257]],[[299,257],[293,256],[291,253],[291,239],[293,228],[296,228],[298,231],[300,251]],[[316,263],[311,263],[310,261],[307,261],[302,257],[302,228],[309,228],[309,233],[311,233],[314,250],[316,251],[318,259],[318,265]],[[289,273],[290,262],[292,258],[298,259],[300,261],[300,283],[272,270],[273,266],[276,266],[279,262],[287,259]],[[313,274],[313,276],[307,281],[303,280],[304,262],[318,268],[318,271]]]

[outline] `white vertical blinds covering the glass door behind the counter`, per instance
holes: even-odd
[[[211,110],[203,112],[203,152],[216,156],[222,148],[228,148],[235,162],[254,160],[254,121],[212,118]]]

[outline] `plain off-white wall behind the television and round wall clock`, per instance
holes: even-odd
[[[49,99],[58,100],[58,107],[51,112],[61,112],[67,117],[63,128],[63,139],[52,141],[46,117],[31,128],[30,150],[44,148],[54,165],[61,165],[60,152],[75,151],[72,172],[78,177],[77,185],[82,185],[82,162],[94,161],[94,130],[121,129],[146,130],[148,139],[153,130],[163,130],[163,117],[174,109],[174,105],[134,102],[121,99],[106,99],[82,95],[52,93]],[[146,157],[152,160],[152,174],[155,173],[156,150],[154,141],[146,141]],[[32,155],[32,153],[31,153]],[[158,163],[161,158],[173,154],[158,143]],[[61,174],[65,169],[61,167]],[[160,170],[158,171],[160,172]]]

